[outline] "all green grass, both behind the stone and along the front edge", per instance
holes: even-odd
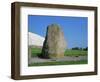
[[[41,54],[42,49],[32,48],[32,57],[37,57]],[[83,50],[71,50],[67,49],[65,51],[65,56],[87,56],[87,51]],[[42,63],[31,63],[29,66],[48,66],[48,65],[74,65],[74,64],[87,64],[87,60],[80,61],[52,61],[52,62],[42,62]]]

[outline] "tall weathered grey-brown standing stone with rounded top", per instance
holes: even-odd
[[[64,34],[57,24],[47,27],[46,37],[42,48],[44,58],[62,58],[66,49]]]

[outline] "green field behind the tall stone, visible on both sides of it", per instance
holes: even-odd
[[[36,57],[37,55],[41,54],[41,48],[32,48],[32,56]],[[83,50],[66,50],[65,56],[86,56],[87,51]]]

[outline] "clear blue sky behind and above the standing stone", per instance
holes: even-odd
[[[64,32],[67,48],[87,47],[88,18],[67,16],[28,16],[28,31],[45,37],[47,26],[58,24]]]

